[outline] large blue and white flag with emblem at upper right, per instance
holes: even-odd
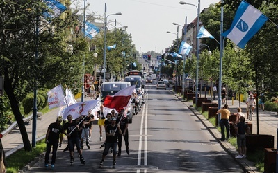
[[[231,39],[234,44],[243,49],[267,20],[268,17],[263,15],[260,10],[242,1],[238,6],[231,28],[222,33],[222,36]]]

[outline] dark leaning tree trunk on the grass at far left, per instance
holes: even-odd
[[[26,131],[26,127],[24,125],[22,114],[19,111],[17,98],[15,97],[15,94],[13,92],[12,80],[8,78],[8,73],[5,73],[4,89],[10,100],[10,107],[12,108],[13,114],[15,116],[15,120],[17,121],[20,130],[20,134],[22,135],[24,150],[30,152],[32,151],[31,143],[28,138],[28,134]]]

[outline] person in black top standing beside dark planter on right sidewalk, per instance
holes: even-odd
[[[238,144],[238,156],[236,158],[246,157],[246,134],[250,133],[250,127],[245,124],[244,116],[240,117],[240,122],[236,125],[236,131],[238,131],[236,136],[236,143]]]

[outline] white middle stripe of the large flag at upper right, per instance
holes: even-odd
[[[245,21],[248,24],[248,26],[252,26],[261,15],[262,13],[259,10],[254,10],[254,7],[249,5],[247,10],[245,10],[243,15],[240,17],[240,19]],[[238,20],[238,24],[240,23],[240,19]],[[238,44],[243,39],[243,37],[245,37],[246,33],[248,33],[250,28],[248,28],[247,31],[242,32],[236,26],[237,24],[234,26],[234,28],[231,28],[231,33],[227,35],[227,38],[230,39],[231,37],[234,37],[233,42],[235,44]]]

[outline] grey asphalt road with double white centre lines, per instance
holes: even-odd
[[[94,125],[91,149],[83,149],[85,165],[75,154],[70,165],[70,153],[58,148],[56,165],[51,172],[243,172],[220,144],[209,134],[202,122],[170,91],[156,90],[146,84],[147,102],[129,125],[130,156],[124,152],[112,168],[112,154],[99,168],[103,151],[99,149],[99,127]],[[30,172],[50,172],[40,159]]]

